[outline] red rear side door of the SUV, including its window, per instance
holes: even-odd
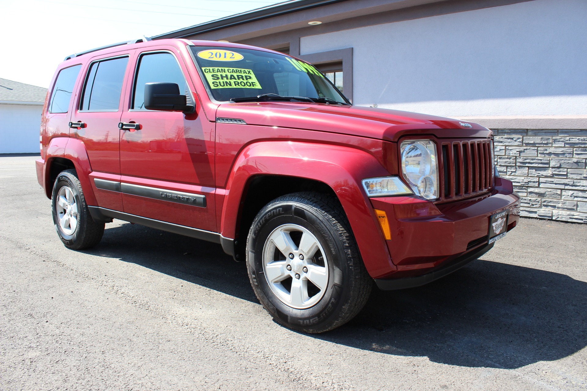
[[[72,115],[71,137],[86,146],[90,182],[102,208],[123,210],[120,194],[120,130],[124,77],[131,52],[94,57]]]

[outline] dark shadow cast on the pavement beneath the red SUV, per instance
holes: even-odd
[[[243,262],[219,244],[125,223],[97,256],[256,302]],[[348,324],[310,335],[336,344],[450,365],[519,368],[587,346],[587,283],[564,274],[477,260],[423,287],[380,291]]]

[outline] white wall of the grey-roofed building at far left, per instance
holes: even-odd
[[[0,104],[0,154],[39,153],[43,106]]]

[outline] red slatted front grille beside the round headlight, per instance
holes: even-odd
[[[468,198],[493,186],[491,140],[441,142],[439,202]]]

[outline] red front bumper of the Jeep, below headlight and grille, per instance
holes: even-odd
[[[386,285],[381,280],[424,276],[459,263],[481,249],[488,251],[491,215],[508,210],[508,231],[519,221],[519,197],[511,183],[496,178],[496,185],[483,195],[444,204],[416,197],[372,198],[373,208],[387,213],[392,239],[386,243],[396,267],[374,276],[377,284]],[[429,278],[421,281],[429,282]]]

